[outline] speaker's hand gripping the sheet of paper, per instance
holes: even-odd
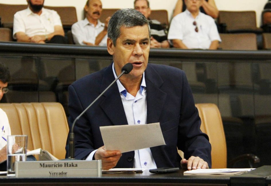
[[[102,146],[95,152],[94,158],[95,160],[102,160],[102,169],[108,170],[117,165],[121,155],[118,150],[105,150]]]

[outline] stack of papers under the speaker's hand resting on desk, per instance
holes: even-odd
[[[254,168],[249,169],[195,169],[191,171],[185,171],[184,175],[237,175],[243,174],[248,171],[254,170]]]

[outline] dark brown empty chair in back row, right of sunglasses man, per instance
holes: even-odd
[[[257,28],[255,11],[219,11],[218,23],[226,26],[228,33],[261,33]]]

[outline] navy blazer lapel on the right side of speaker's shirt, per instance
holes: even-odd
[[[150,64],[145,71],[145,80],[147,86],[147,123],[149,124],[159,121],[167,93],[160,89],[163,80]]]

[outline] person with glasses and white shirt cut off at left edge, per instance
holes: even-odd
[[[9,69],[3,62],[0,62],[0,100],[7,93],[7,83],[10,79]],[[7,136],[11,135],[7,114],[0,108],[0,171],[7,170]]]

